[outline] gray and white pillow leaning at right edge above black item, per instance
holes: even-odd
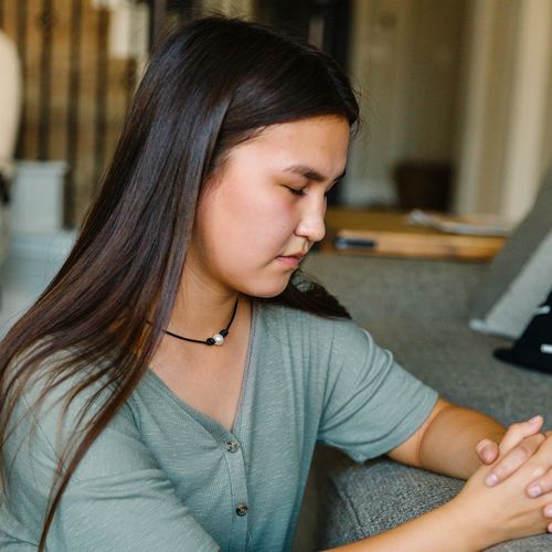
[[[552,171],[534,206],[490,264],[476,294],[470,327],[517,339],[546,296],[552,274]]]

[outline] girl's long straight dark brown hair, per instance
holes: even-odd
[[[70,378],[77,383],[67,401],[93,384],[107,392],[84,437],[74,432],[72,454],[60,460],[39,550],[76,466],[147,371],[174,304],[206,177],[259,129],[320,115],[354,126],[358,104],[348,78],[318,49],[263,25],[197,20],[170,34],[152,56],[68,258],[0,343],[2,450],[25,384],[53,353],[72,351],[49,368],[35,406]],[[348,317],[315,283],[299,286],[294,279],[273,300]]]

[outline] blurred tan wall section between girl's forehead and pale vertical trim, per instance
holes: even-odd
[[[464,12],[464,0],[353,2],[351,71],[365,127],[346,203],[392,203],[397,161],[452,159]]]

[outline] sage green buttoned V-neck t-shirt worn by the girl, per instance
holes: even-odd
[[[35,432],[29,417],[15,427],[0,550],[36,550],[57,443],[85,399],[61,437],[55,394]],[[354,322],[255,305],[232,432],[148,372],[79,464],[47,550],[289,550],[316,442],[363,461],[403,443],[436,399]]]

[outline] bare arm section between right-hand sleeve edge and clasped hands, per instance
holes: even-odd
[[[500,443],[506,433],[491,417],[446,405],[433,418],[420,443],[421,467],[467,479],[481,465],[476,445],[484,438]]]

